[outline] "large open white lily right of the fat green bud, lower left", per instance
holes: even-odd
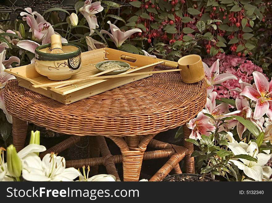
[[[65,166],[65,159],[54,153],[46,154],[42,161],[36,154],[29,154],[22,174],[28,181],[73,181],[81,175],[75,168]]]

